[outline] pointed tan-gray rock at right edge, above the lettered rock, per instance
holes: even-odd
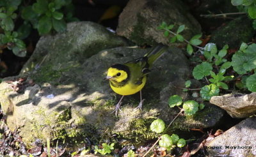
[[[231,117],[244,118],[256,113],[256,93],[212,96],[210,103],[223,108]]]

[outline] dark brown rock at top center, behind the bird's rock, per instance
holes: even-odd
[[[170,45],[170,39],[163,36],[164,31],[157,30],[162,22],[176,26],[184,24],[186,29],[182,36],[188,40],[201,29],[182,1],[130,0],[120,14],[116,33],[138,45]]]

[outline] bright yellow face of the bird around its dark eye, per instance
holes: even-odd
[[[106,77],[106,79],[114,80],[115,82],[122,82],[125,79],[127,79],[127,77],[128,77],[128,74],[127,74],[126,71],[118,70],[118,69],[112,68],[112,67],[110,67],[108,69],[108,74],[107,75],[108,76]]]

